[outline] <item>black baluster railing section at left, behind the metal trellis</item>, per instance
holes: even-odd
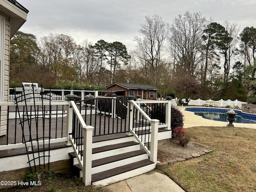
[[[27,103],[27,108],[25,103],[19,103],[18,106],[13,103],[10,106],[0,106],[0,111],[4,111],[3,108],[6,108],[7,118],[5,123],[6,125],[6,135],[0,137],[0,145],[9,145],[9,144],[18,144],[24,143],[24,139],[22,137],[22,129],[21,125],[24,127],[24,136],[28,138],[31,135],[36,134],[36,127],[38,127],[38,135],[43,136],[43,134],[48,134],[51,132],[51,139],[63,138],[66,137],[66,113],[67,113],[67,105],[61,103],[48,103],[36,104],[36,106],[32,106]],[[22,120],[22,124],[20,124],[20,119],[18,116],[20,113],[20,118]],[[35,115],[38,117],[42,116],[52,116],[52,120],[50,121],[48,118],[36,121],[33,117]],[[30,124],[32,129],[29,131],[28,123],[25,123],[26,118],[30,118]],[[1,117],[0,117],[1,118]],[[43,125],[47,125],[47,127],[43,128]],[[1,127],[1,120],[0,120]],[[42,139],[41,139],[42,140]]]

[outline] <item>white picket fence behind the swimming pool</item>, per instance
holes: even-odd
[[[239,101],[239,100],[202,100],[202,99],[197,99],[197,100],[190,100],[188,102],[188,105],[195,105],[195,106],[204,106],[204,104],[206,104],[206,102],[217,102],[219,105],[218,107],[226,107],[226,106],[230,106],[230,108],[234,108],[234,107],[239,107],[239,108],[242,108],[242,104],[247,104],[247,102],[243,102],[243,101]]]

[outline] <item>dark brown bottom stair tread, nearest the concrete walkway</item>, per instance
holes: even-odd
[[[154,162],[150,161],[149,159],[141,160],[132,164],[116,167],[114,169],[110,169],[107,171],[99,172],[96,174],[92,174],[92,183],[96,181],[100,181],[106,178],[110,178],[112,176],[116,176],[118,174],[122,174],[137,168],[141,168],[150,164],[153,164]]]

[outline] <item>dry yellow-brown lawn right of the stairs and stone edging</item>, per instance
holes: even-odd
[[[191,140],[214,152],[162,170],[187,192],[256,191],[256,130],[234,127],[187,128]]]

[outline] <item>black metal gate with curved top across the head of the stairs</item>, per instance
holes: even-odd
[[[129,132],[126,125],[127,103],[108,97],[76,102],[86,125],[94,127],[93,136]]]

